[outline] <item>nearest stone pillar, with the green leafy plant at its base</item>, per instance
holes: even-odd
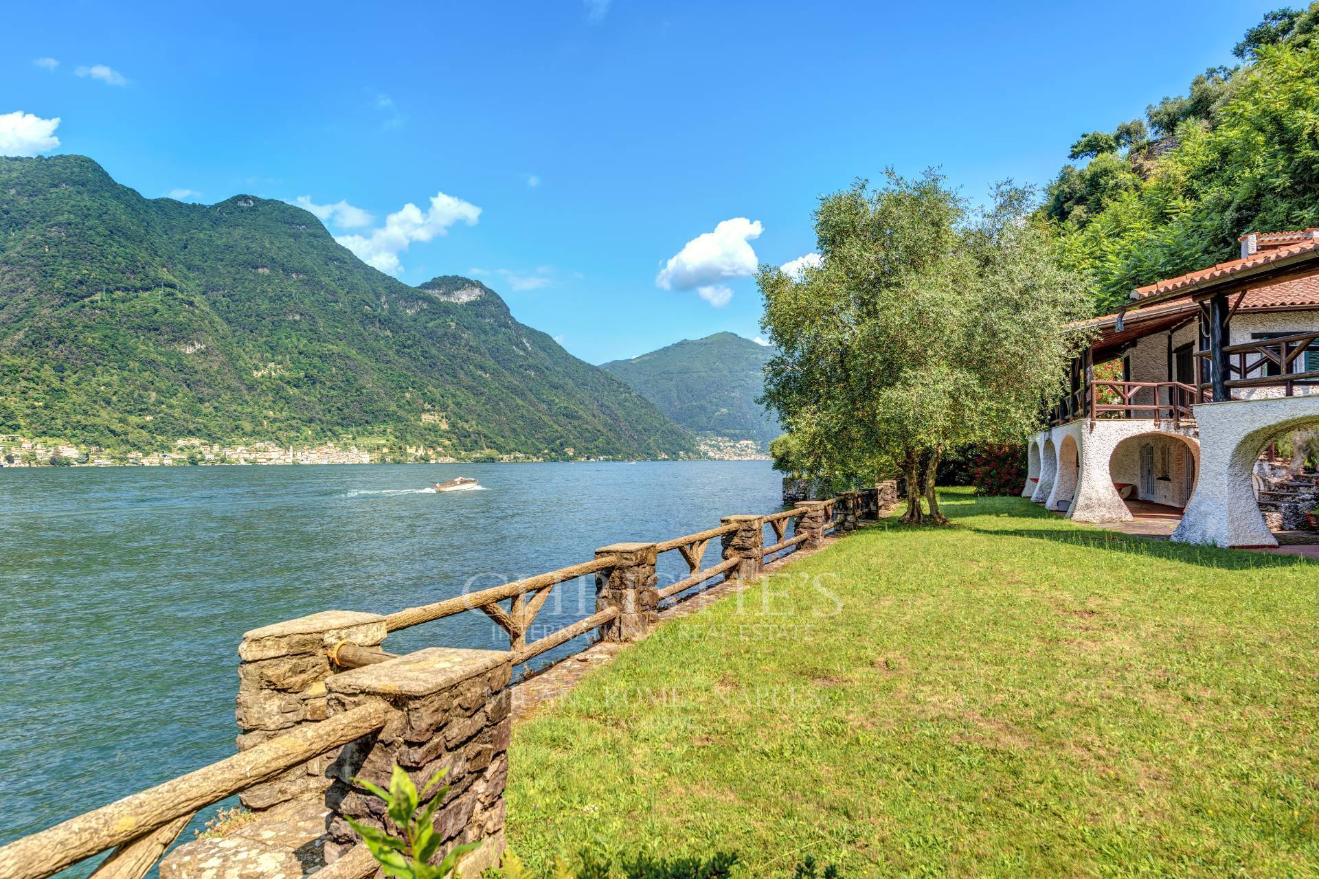
[[[512,671],[512,654],[505,651],[430,647],[330,679],[331,714],[368,700],[384,700],[397,714],[379,734],[344,746],[331,767],[339,780],[326,796],[331,809],[327,859],[357,841],[346,817],[400,836],[384,800],[351,781],[360,778],[389,789],[389,775],[398,764],[418,791],[445,771],[437,787],[447,785],[448,793],[434,825],[445,842],[435,863],[455,845],[479,842],[481,847],[463,859],[459,875],[475,879],[499,866],[505,846]]]

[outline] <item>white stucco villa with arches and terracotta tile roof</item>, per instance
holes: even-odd
[[[1270,478],[1261,457],[1319,427],[1319,228],[1240,241],[1240,258],[1079,324],[1093,337],[1030,438],[1022,496],[1078,522],[1166,509],[1183,543],[1278,544],[1269,522],[1315,490]]]

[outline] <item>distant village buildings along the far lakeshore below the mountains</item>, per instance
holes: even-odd
[[[754,440],[735,440],[727,436],[702,438],[698,448],[706,459],[721,461],[768,460]],[[571,457],[574,461],[608,461],[608,457]],[[452,457],[423,447],[357,445],[342,447],[335,443],[297,448],[274,443],[248,445],[222,445],[199,439],[174,440],[168,452],[111,452],[99,445],[79,445],[69,441],[29,439],[18,435],[0,435],[0,467],[173,467],[219,464],[458,464],[503,463],[530,464],[545,459],[533,455],[497,455],[493,452]]]

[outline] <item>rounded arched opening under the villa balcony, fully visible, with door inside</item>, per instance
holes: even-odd
[[[1181,519],[1195,494],[1199,444],[1181,434],[1128,436],[1113,447],[1108,474],[1126,509],[1145,517]]]

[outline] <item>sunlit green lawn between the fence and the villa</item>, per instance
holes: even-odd
[[[512,847],[1319,875],[1319,564],[944,502],[952,527],[867,527],[518,725]]]

